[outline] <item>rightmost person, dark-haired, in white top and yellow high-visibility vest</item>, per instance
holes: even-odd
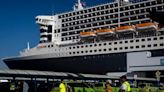
[[[120,92],[131,92],[130,84],[127,81],[127,78],[125,75],[120,77],[120,82],[121,82]]]

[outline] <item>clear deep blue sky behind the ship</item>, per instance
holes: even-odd
[[[2,58],[17,56],[27,47],[39,42],[37,15],[52,15],[72,11],[77,0],[1,0],[0,1],[0,69],[6,68]],[[86,6],[110,0],[82,0]]]

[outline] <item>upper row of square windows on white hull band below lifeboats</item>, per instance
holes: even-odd
[[[164,37],[159,37],[160,40],[163,40]],[[151,40],[158,40],[157,37],[155,38],[147,38],[147,39],[136,39],[136,40],[125,40],[125,41],[119,41],[119,42],[114,42],[113,44],[114,45],[117,45],[117,44],[123,44],[123,43],[135,43],[135,42],[145,42],[145,41],[151,41]],[[96,47],[96,46],[106,46],[106,45],[112,45],[112,42],[109,42],[109,43],[99,43],[99,44],[90,44],[90,45],[81,45],[81,46],[73,46],[73,47],[69,47],[69,49],[79,49],[79,48],[84,48],[84,47]]]

